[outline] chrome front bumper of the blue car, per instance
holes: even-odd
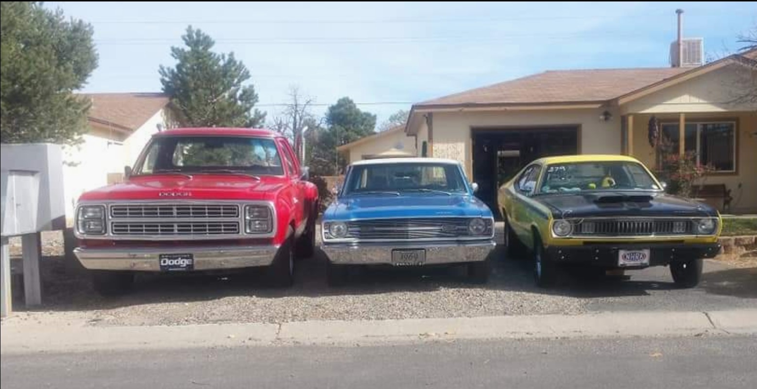
[[[393,251],[424,250],[424,265],[466,263],[486,260],[497,244],[494,241],[382,242],[322,244],[332,263],[391,265]]]

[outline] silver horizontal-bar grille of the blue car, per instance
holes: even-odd
[[[367,219],[347,223],[347,237],[361,240],[410,240],[423,238],[453,239],[472,237],[469,218],[440,217],[428,219]],[[491,219],[484,219],[487,229],[481,237],[491,236]]]

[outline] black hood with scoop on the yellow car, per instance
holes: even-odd
[[[540,195],[556,218],[622,216],[717,216],[709,205],[653,192],[612,191]]]

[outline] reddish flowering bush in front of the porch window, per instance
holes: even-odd
[[[684,155],[665,154],[659,176],[668,182],[668,193],[690,198],[696,182],[713,171],[715,169],[712,166],[696,163],[696,153],[689,151]]]

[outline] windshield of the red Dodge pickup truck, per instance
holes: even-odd
[[[244,136],[167,136],[154,138],[135,174],[240,171],[282,175],[276,142]]]

